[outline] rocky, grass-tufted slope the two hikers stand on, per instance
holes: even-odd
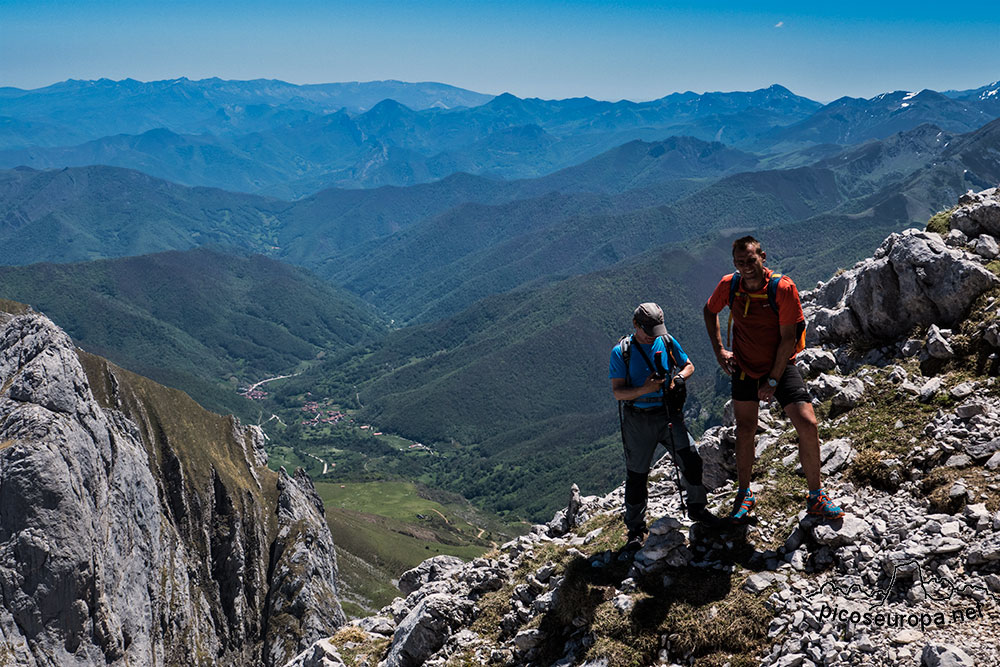
[[[425,561],[405,597],[289,664],[1000,664],[997,191],[964,197],[950,226],[894,234],[803,295],[798,363],[843,520],[805,516],[794,430],[762,410],[756,524],[683,520],[661,460],[662,518],[634,558],[622,488],[574,487],[548,524],[488,558]],[[734,439],[727,415],[698,443],[719,512]]]

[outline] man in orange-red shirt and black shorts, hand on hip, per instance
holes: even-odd
[[[744,236],[733,242],[736,273],[725,276],[705,304],[705,327],[715,358],[732,378],[736,417],[736,471],[739,487],[730,518],[747,519],[757,502],[750,490],[759,401],[778,400],[799,436],[799,460],[809,485],[808,513],[839,519],[836,506],[820,484],[819,432],[812,399],[802,374],[792,363],[801,350],[805,317],[795,283],[764,266],[760,242]],[[732,350],[722,344],[719,313],[729,306]]]

